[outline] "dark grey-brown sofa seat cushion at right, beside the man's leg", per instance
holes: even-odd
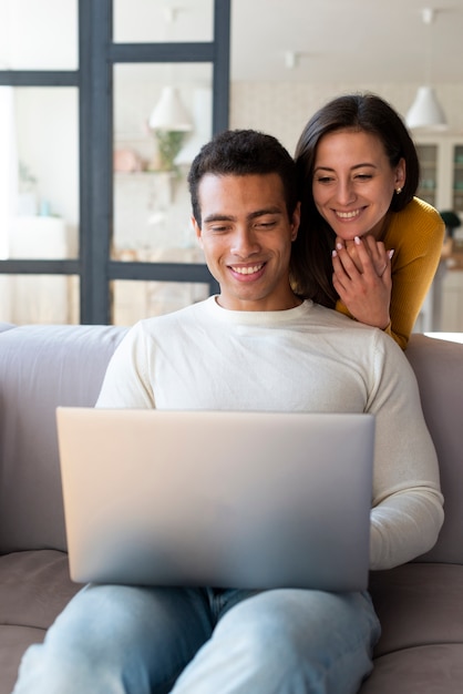
[[[372,572],[382,634],[360,694],[460,694],[463,567],[410,563]]]

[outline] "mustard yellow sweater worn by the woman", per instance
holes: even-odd
[[[414,197],[402,212],[391,214],[383,242],[392,256],[391,323],[385,328],[402,348],[410,334],[438,269],[445,226],[434,207]],[[339,299],[339,310],[350,316]]]

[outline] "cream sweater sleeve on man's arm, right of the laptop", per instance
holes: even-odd
[[[397,345],[381,345],[390,339],[378,336],[377,387],[368,408],[377,422],[370,568],[391,569],[435,544],[443,498],[413,370]]]

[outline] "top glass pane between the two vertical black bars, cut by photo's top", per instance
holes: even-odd
[[[114,0],[113,16],[120,43],[212,41],[214,35],[213,0]]]

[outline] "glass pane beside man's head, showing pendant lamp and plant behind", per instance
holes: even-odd
[[[212,135],[210,83],[210,65],[115,67],[113,259],[204,262],[186,177]],[[165,96],[173,94],[182,122],[167,129]]]

